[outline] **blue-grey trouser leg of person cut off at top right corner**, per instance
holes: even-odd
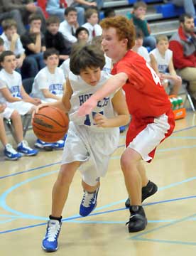
[[[194,18],[196,25],[196,13],[194,6],[196,5],[196,0],[170,0],[170,2],[175,4],[175,6],[183,6],[185,14],[190,14]]]

